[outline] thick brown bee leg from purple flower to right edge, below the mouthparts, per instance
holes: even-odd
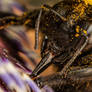
[[[67,74],[66,77],[63,77],[62,75],[60,75],[60,73],[56,73],[45,77],[38,77],[35,79],[36,84],[40,88],[44,87],[45,85],[48,85],[53,89],[60,88],[60,90],[67,85],[68,87],[73,86],[76,89],[76,86],[83,86],[85,83],[90,81],[92,81],[92,67],[83,68],[83,69],[74,69],[74,70],[72,69]],[[62,91],[62,92],[66,92],[66,91]]]

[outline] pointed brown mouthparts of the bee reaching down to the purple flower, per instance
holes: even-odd
[[[41,72],[43,72],[48,66],[52,64],[51,60],[53,58],[53,55],[51,53],[47,53],[40,63],[36,66],[36,68],[33,70],[31,74],[31,78],[38,76]]]

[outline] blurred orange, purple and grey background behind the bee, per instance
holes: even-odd
[[[43,4],[52,6],[59,1],[60,0],[0,0],[1,18],[8,16],[9,13],[11,15],[14,14],[17,16],[22,16],[24,12],[38,9]],[[23,26],[9,26],[0,32],[0,40],[0,46],[7,49],[8,53],[17,59],[24,67],[29,69],[31,68],[33,70],[41,60],[41,43],[39,43],[38,50],[34,49],[34,29],[27,29]],[[39,37],[39,40],[39,42],[42,41],[41,36]],[[43,72],[42,75],[48,75],[53,72],[55,72],[55,68],[52,65],[45,72]]]

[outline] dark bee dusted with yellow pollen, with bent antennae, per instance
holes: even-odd
[[[87,30],[92,22],[91,17],[91,0],[61,0],[52,7],[43,5],[41,9],[20,17],[2,18],[0,29],[9,25],[35,28],[35,48],[38,47],[39,31],[42,32],[42,59],[31,77],[38,76],[52,63],[60,66],[58,74],[62,76],[88,42]]]

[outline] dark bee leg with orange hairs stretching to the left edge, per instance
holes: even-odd
[[[26,12],[22,16],[12,15],[8,17],[0,18],[0,29],[4,29],[10,25],[25,25],[34,28],[35,20],[37,19],[38,14],[39,14],[39,9],[31,12]]]

